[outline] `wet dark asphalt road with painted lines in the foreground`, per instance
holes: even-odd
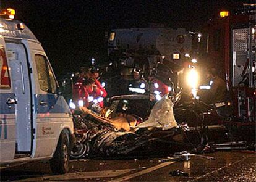
[[[72,160],[70,172],[51,175],[48,163],[27,163],[1,170],[1,181],[256,181],[256,154],[226,151],[186,162],[160,159]],[[189,176],[169,176],[182,170]]]

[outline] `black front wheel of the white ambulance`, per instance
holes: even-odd
[[[69,171],[70,145],[69,136],[65,131],[59,136],[58,145],[53,158],[50,160],[51,171],[54,174],[64,174]]]

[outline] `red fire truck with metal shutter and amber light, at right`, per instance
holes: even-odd
[[[247,4],[235,12],[221,11],[202,28],[199,45],[200,59],[226,81],[233,120],[245,123],[256,120],[255,10],[255,4]]]

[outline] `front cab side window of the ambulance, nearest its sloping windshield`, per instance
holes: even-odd
[[[35,62],[40,89],[48,93],[56,93],[57,83],[46,57],[36,54]]]

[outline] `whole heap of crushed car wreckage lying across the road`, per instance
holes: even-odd
[[[85,107],[75,112],[77,144],[71,157],[169,155],[202,150],[211,141],[210,133],[215,133],[215,141],[225,137],[216,110],[200,101],[178,104],[165,96],[155,103],[138,94],[114,96],[109,103],[101,114]]]

